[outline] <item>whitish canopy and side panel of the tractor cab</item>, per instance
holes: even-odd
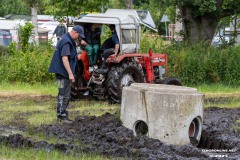
[[[120,41],[120,53],[137,53],[140,50],[140,24],[157,31],[156,25],[145,10],[108,9],[105,13],[87,14],[74,21],[74,25],[89,23],[114,24]]]

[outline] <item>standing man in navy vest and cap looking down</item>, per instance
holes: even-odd
[[[75,40],[80,39],[79,42],[86,45],[82,38],[85,37],[81,26],[74,26],[70,32],[64,34],[57,44],[48,70],[56,74],[58,82],[57,118],[65,122],[70,122],[67,106],[71,96],[71,83],[75,82],[77,64]]]

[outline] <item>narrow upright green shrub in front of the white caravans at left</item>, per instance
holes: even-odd
[[[32,29],[34,26],[27,22],[24,26],[19,26],[20,29],[20,42],[22,50],[25,52],[28,49],[28,41],[30,36],[32,35]]]

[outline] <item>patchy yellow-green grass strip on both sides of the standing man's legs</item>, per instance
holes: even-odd
[[[1,123],[5,125],[19,125],[24,122],[31,126],[52,124],[56,122],[56,99],[50,100],[14,100],[9,99],[0,103]],[[106,112],[115,113],[119,105],[109,105],[99,101],[74,101],[68,107],[70,118],[77,116],[100,116]]]

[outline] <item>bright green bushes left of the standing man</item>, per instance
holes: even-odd
[[[47,82],[54,79],[48,73],[53,49],[40,46],[25,52],[11,49],[9,57],[0,57],[0,80],[9,82]]]

